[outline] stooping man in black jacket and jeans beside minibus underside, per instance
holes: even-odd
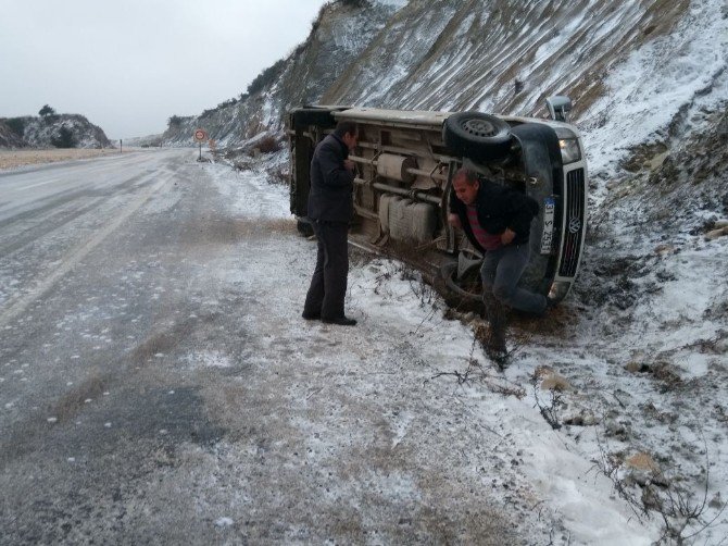
[[[485,255],[480,277],[491,330],[488,348],[504,355],[505,314],[501,306],[534,314],[547,309],[544,296],[518,287],[528,265],[528,236],[539,206],[527,195],[467,169],[455,173],[452,188],[455,198],[450,199],[448,220]]]

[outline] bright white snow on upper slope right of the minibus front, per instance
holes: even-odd
[[[601,184],[617,175],[631,147],[665,140],[681,115],[686,124],[701,109],[728,98],[728,13],[723,0],[692,0],[678,28],[612,69],[607,92],[581,116],[590,174]]]

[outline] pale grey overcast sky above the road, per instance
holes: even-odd
[[[84,114],[109,138],[239,96],[325,0],[0,0],[0,117]]]

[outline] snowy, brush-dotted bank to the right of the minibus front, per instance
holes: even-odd
[[[612,69],[610,91],[580,126],[592,233],[575,294],[555,313],[573,315],[568,335],[531,337],[507,371],[525,379],[552,362],[569,383],[558,421],[598,423],[562,431],[612,473],[636,516],[645,520],[648,506],[653,522],[662,512],[676,535],[698,544],[728,536],[728,237],[707,241],[695,229],[728,220],[726,181],[708,175],[707,187],[674,186],[676,199],[650,187],[649,170],[629,173],[623,162],[636,147],[660,142],[698,179],[683,150],[725,115],[726,14],[725,2],[692,1],[673,33]]]

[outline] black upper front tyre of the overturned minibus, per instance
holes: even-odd
[[[478,162],[499,161],[509,156],[511,127],[491,114],[462,112],[444,121],[442,139],[454,152]]]

